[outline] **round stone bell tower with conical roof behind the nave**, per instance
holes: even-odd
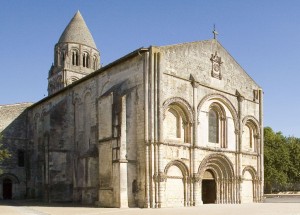
[[[100,53],[79,11],[54,48],[49,70],[48,95],[52,95],[100,68]]]

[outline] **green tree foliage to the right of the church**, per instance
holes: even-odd
[[[300,182],[300,139],[264,129],[264,167],[267,193],[295,189]]]

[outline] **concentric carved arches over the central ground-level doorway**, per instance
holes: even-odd
[[[198,168],[198,176],[202,178],[206,170],[211,170],[216,179],[233,179],[235,177],[232,162],[221,153],[205,157]]]

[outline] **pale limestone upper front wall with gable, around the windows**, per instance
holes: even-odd
[[[194,134],[191,130],[191,142],[184,143],[176,137],[176,132],[174,132],[175,117],[167,112],[168,108],[164,107],[163,140],[167,146],[164,147],[165,156],[161,161],[163,165],[166,166],[178,159],[191,169],[192,159],[196,159],[194,169],[198,169],[206,157],[223,154],[229,159],[235,176],[239,176],[240,171],[246,166],[251,166],[257,171],[257,151],[243,148],[243,142],[246,140],[241,139],[240,142],[239,136],[243,136],[243,131],[239,126],[244,119],[255,119],[259,122],[259,103],[256,94],[260,87],[215,40],[159,47],[159,51],[161,53],[160,72],[163,74],[163,87],[160,93],[162,105],[170,100],[180,103],[179,100],[182,99],[185,101],[183,109],[187,113],[189,109],[192,111],[197,109],[197,119],[191,112],[192,119],[190,120],[198,123],[196,142],[193,142]],[[221,79],[211,75],[212,61],[210,59],[215,53],[221,57],[222,61]],[[196,94],[193,93],[193,87],[196,88]],[[240,97],[242,97],[241,103],[239,103]],[[225,110],[226,135],[221,137],[226,138],[227,147],[225,148],[208,142],[208,111],[213,102],[220,104]],[[191,152],[189,144],[199,147],[195,149],[196,158],[179,156],[182,154],[181,148],[184,144],[189,152]],[[239,149],[238,144],[242,145],[240,158],[236,154]]]

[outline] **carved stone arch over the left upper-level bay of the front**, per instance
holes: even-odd
[[[172,104],[178,105],[185,112],[188,122],[193,122],[193,109],[191,105],[185,99],[180,97],[169,98],[163,103],[163,118],[165,118],[166,111]]]

